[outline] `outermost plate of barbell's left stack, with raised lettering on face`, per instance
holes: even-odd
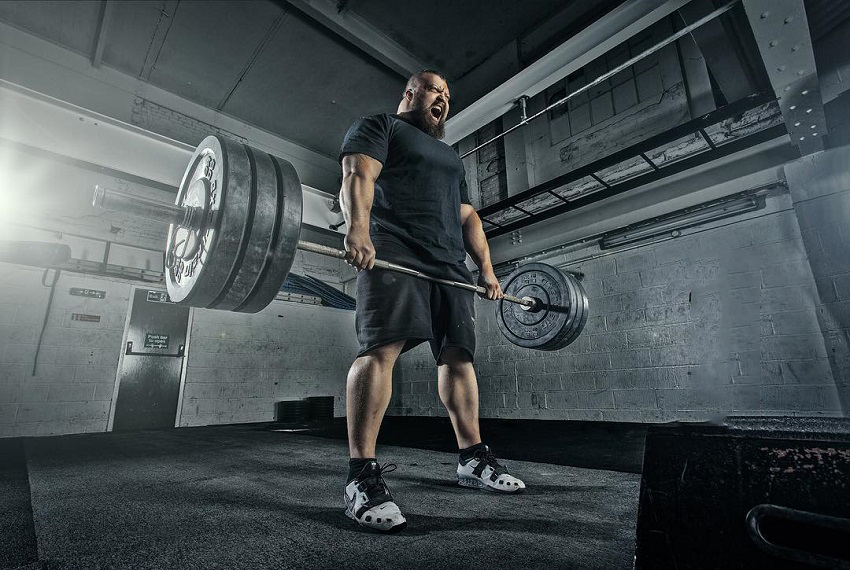
[[[227,289],[247,246],[251,171],[241,144],[209,136],[198,145],[175,203],[201,206],[205,201],[209,206],[201,230],[193,233],[172,225],[166,244],[168,294],[193,307],[210,305]],[[181,240],[193,235],[198,242],[191,248],[193,254],[188,259],[174,255]]]

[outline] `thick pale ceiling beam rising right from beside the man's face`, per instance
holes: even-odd
[[[606,16],[529,65],[446,122],[445,142],[454,144],[612,48],[667,17],[688,0],[626,0]]]

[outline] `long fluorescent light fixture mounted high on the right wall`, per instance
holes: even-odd
[[[653,218],[646,222],[638,222],[621,230],[610,232],[599,240],[599,247],[609,249],[627,243],[642,241],[665,234],[672,234],[685,228],[698,226],[715,220],[729,218],[759,209],[755,196],[726,200],[703,207],[696,206],[686,210],[678,210],[670,214]],[[676,237],[675,235],[673,237]]]

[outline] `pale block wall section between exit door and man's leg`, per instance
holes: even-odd
[[[264,422],[274,404],[333,396],[357,353],[354,312],[274,301],[254,315],[195,309],[181,426]]]

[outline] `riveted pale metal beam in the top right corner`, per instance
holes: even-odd
[[[803,0],[744,0],[744,9],[791,142],[803,155],[823,150],[826,119]]]

